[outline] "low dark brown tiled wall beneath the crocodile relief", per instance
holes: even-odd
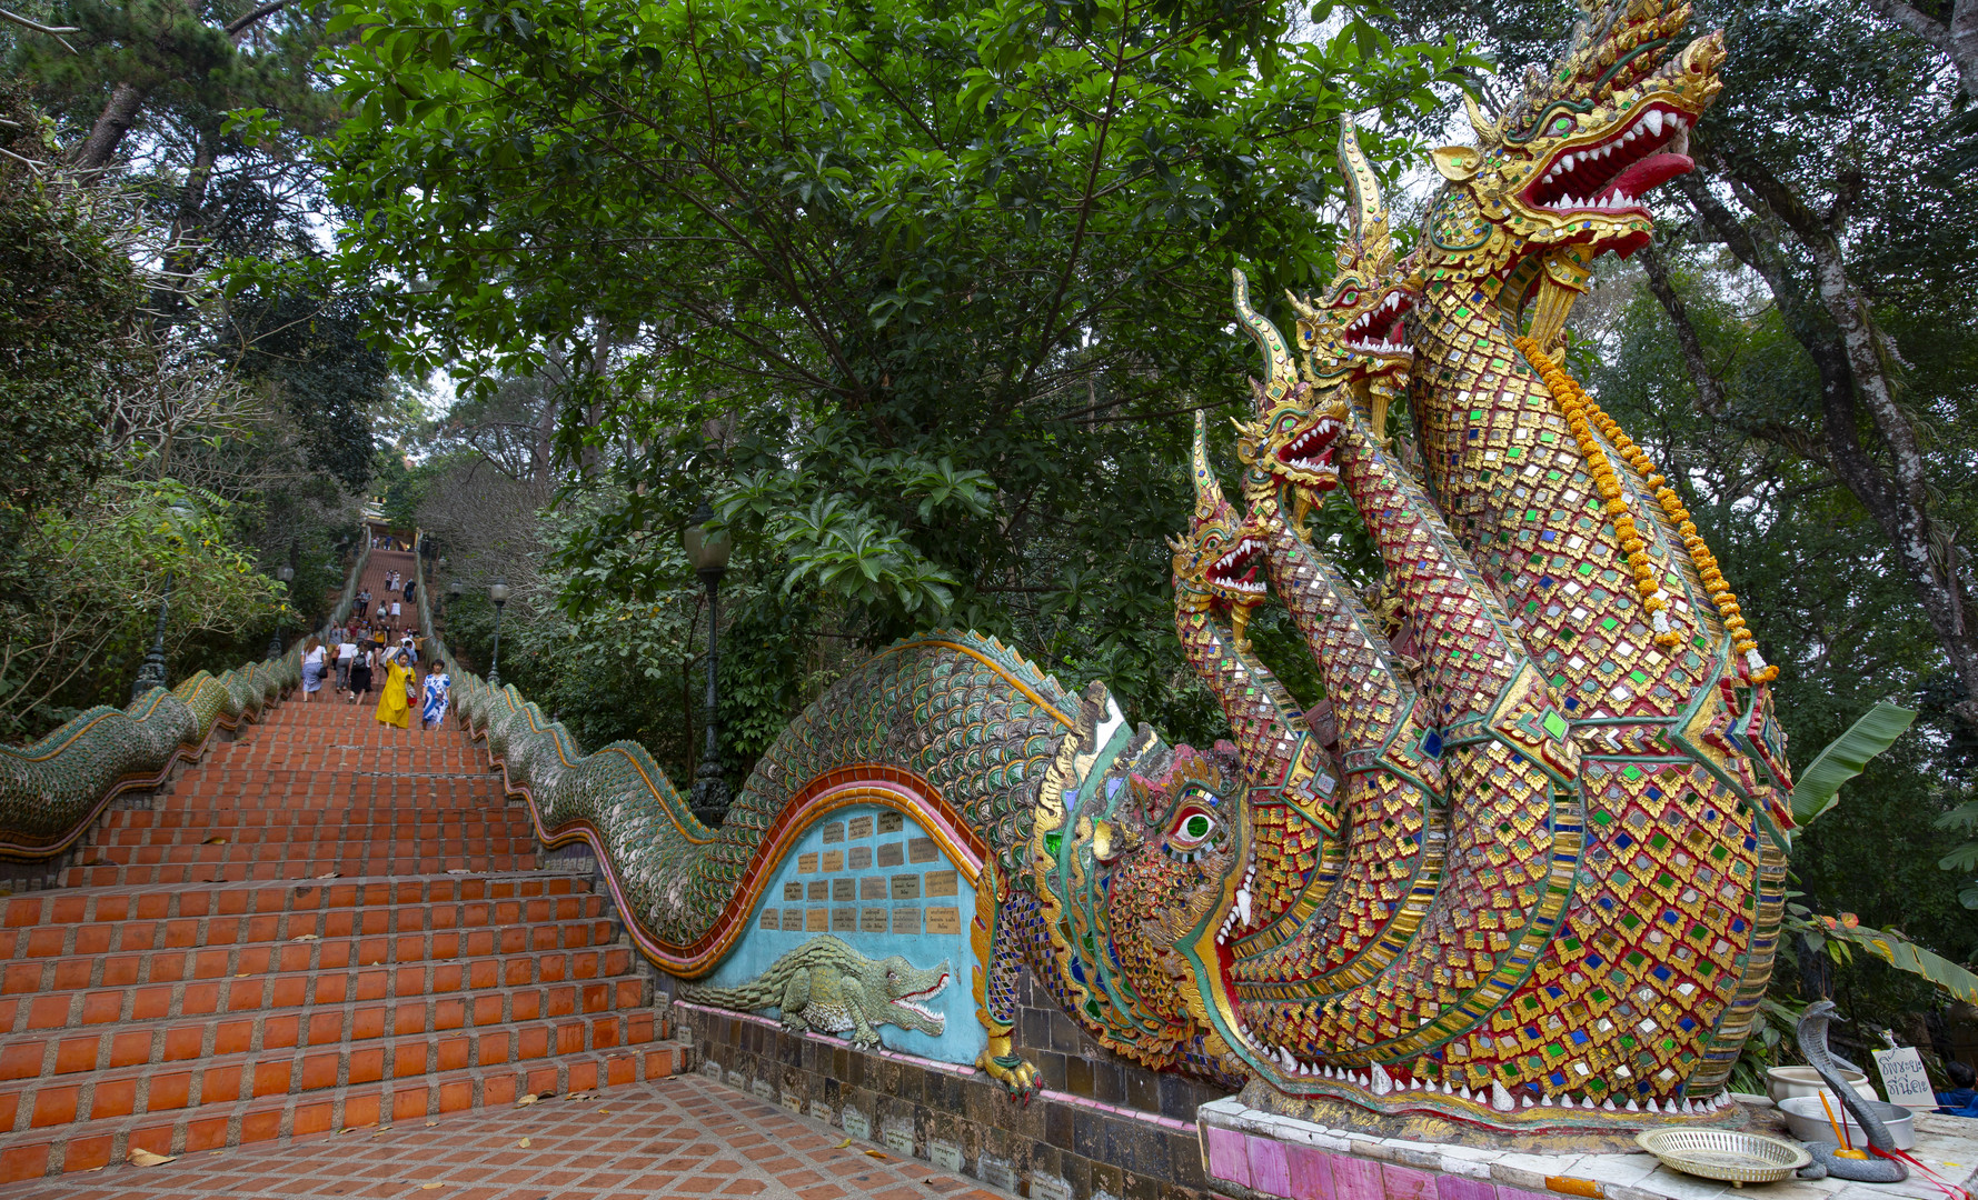
[[[1033,1004],[1029,977],[1019,994],[1017,1050],[1038,1066],[1044,1087],[1191,1129],[1042,1097],[1025,1107],[983,1075],[951,1075],[694,1008],[673,1016],[676,1036],[694,1042],[708,1075],[945,1170],[1036,1200],[1207,1200],[1195,1107],[1224,1093],[1110,1054],[1046,1008],[1046,996],[1036,996],[1046,1006]]]

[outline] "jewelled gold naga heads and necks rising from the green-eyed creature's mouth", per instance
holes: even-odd
[[[1501,121],[1472,105],[1478,144],[1436,150],[1402,263],[1349,125],[1351,235],[1331,287],[1292,297],[1296,362],[1236,277],[1266,360],[1246,518],[1199,443],[1183,637],[1226,631],[1197,662],[1254,728],[1276,686],[1242,625],[1268,581],[1339,779],[1298,880],[1232,854],[1284,900],[1177,947],[1252,1103],[1444,1137],[1733,1119],[1790,830],[1776,668],[1667,480],[1555,360],[1594,257],[1646,245],[1642,196],[1693,168],[1725,51],[1687,18],[1592,4]],[[1304,532],[1333,488],[1381,550],[1379,615]],[[1284,775],[1260,741],[1238,735],[1246,777]]]

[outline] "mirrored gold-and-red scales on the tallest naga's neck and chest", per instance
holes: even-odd
[[[1751,811],[1665,739],[1707,686],[1715,654],[1699,650],[1711,648],[1709,635],[1721,641],[1721,627],[1699,613],[1693,571],[1671,563],[1667,532],[1642,504],[1671,621],[1693,637],[1675,652],[1656,646],[1592,478],[1543,384],[1478,297],[1460,302],[1432,287],[1430,302],[1416,415],[1444,510],[1517,613],[1517,631],[1569,718],[1646,724],[1602,726],[1634,753],[1582,759],[1578,882],[1531,986],[1487,1026],[1438,1048],[1436,1060],[1444,1077],[1456,1071],[1472,1085],[1515,1077],[1594,1099],[1604,1097],[1604,1077],[1620,1081],[1616,1099],[1669,1097],[1685,1077],[1695,1089],[1713,1087],[1715,1071],[1693,1071],[1745,983],[1751,949],[1772,937],[1776,917],[1768,925],[1760,913],[1762,876],[1782,866],[1766,862],[1776,852]],[[1640,480],[1624,478],[1640,496]],[[1705,633],[1695,633],[1699,621]]]

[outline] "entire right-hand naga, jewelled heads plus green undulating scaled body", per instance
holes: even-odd
[[[643,749],[582,755],[469,680],[544,838],[601,850],[665,971],[783,955],[682,998],[928,1032],[910,961],[951,933],[967,1058],[1017,1093],[1029,973],[1114,1052],[1258,1107],[1446,1137],[1735,1119],[1790,828],[1774,670],[1677,494],[1555,360],[1590,263],[1646,245],[1640,196],[1689,170],[1723,43],[1685,42],[1681,4],[1586,8],[1503,119],[1472,111],[1476,146],[1436,152],[1406,261],[1343,132],[1353,231],[1292,299],[1296,354],[1236,277],[1266,364],[1240,486],[1199,423],[1173,544],[1175,629],[1230,741],[1171,747],[1102,684],[924,635],[815,702],[710,830]],[[1381,552],[1365,597],[1305,534],[1335,490]],[[1323,680],[1309,712],[1250,650],[1264,603]],[[851,878],[888,846],[926,870]]]

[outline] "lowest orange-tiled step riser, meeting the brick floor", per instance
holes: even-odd
[[[556,1056],[526,1068],[518,1064],[461,1068],[455,1071],[435,1071],[421,1079],[346,1085],[336,1089],[334,1095],[311,1091],[281,1097],[283,1103],[279,1105],[269,1103],[275,1097],[233,1101],[231,1111],[225,1113],[220,1111],[224,1105],[212,1105],[182,1109],[174,1113],[174,1119],[164,1119],[164,1113],[144,1113],[101,1123],[77,1121],[73,1125],[51,1125],[28,1133],[0,1135],[0,1182],[123,1164],[133,1147],[154,1155],[186,1155],[239,1145],[279,1145],[307,1137],[336,1135],[342,1129],[352,1129],[352,1119],[356,1119],[356,1129],[374,1131],[392,1121],[417,1121],[443,1113],[512,1105],[516,1097],[532,1091],[536,1095],[554,1091],[558,1097],[564,1097],[572,1089],[595,1091],[665,1079],[686,1073],[690,1054],[692,1048],[682,1042],[647,1042],[641,1050]],[[627,1060],[629,1071],[613,1066]],[[585,1066],[591,1068],[589,1079],[585,1079]],[[459,1103],[463,1085],[467,1099]],[[409,1097],[409,1101],[402,1097]],[[352,1099],[358,1103],[352,1105]],[[324,1105],[328,1111],[320,1111]],[[99,1133],[93,1129],[99,1125],[111,1125],[111,1129]],[[198,1125],[198,1131],[194,1131],[194,1125]],[[307,1129],[299,1131],[301,1125],[307,1125]],[[214,1137],[216,1133],[218,1137]],[[350,1137],[356,1137],[356,1133]],[[127,1176],[113,1178],[119,1182],[127,1180]],[[129,1176],[129,1182],[135,1182],[135,1176]]]

